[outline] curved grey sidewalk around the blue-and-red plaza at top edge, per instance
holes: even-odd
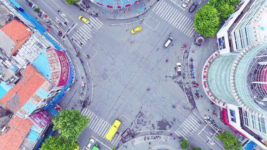
[[[116,19],[116,20],[124,20],[124,19],[130,19],[137,16],[140,16],[144,14],[146,11],[148,11],[152,6],[159,2],[158,0],[142,0],[138,4],[129,7],[127,9],[119,9],[119,10],[113,10],[108,8],[100,7],[94,3],[92,3],[90,0],[83,0],[83,3],[79,4],[80,7],[82,7],[85,11],[87,11],[90,14],[98,15],[99,17],[103,17],[106,19]],[[90,8],[86,8],[86,5],[89,5]]]

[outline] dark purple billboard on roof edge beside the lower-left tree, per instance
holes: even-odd
[[[31,114],[29,118],[40,128],[43,128],[52,122],[53,116],[47,111],[39,111]]]

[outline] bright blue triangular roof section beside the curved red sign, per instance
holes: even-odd
[[[32,65],[36,68],[36,70],[44,75],[44,77],[49,80],[50,79],[50,67],[48,64],[48,60],[45,54],[45,50],[42,51],[42,53],[34,60]]]

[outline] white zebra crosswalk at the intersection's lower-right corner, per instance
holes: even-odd
[[[195,112],[191,113],[178,127],[175,133],[179,137],[183,137],[187,140],[187,138],[192,136],[201,126],[198,121],[203,122],[202,119]]]

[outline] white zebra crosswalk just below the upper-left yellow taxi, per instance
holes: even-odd
[[[71,37],[71,40],[80,48],[82,48],[103,25],[97,18],[90,16],[88,19],[89,24],[83,24]]]

